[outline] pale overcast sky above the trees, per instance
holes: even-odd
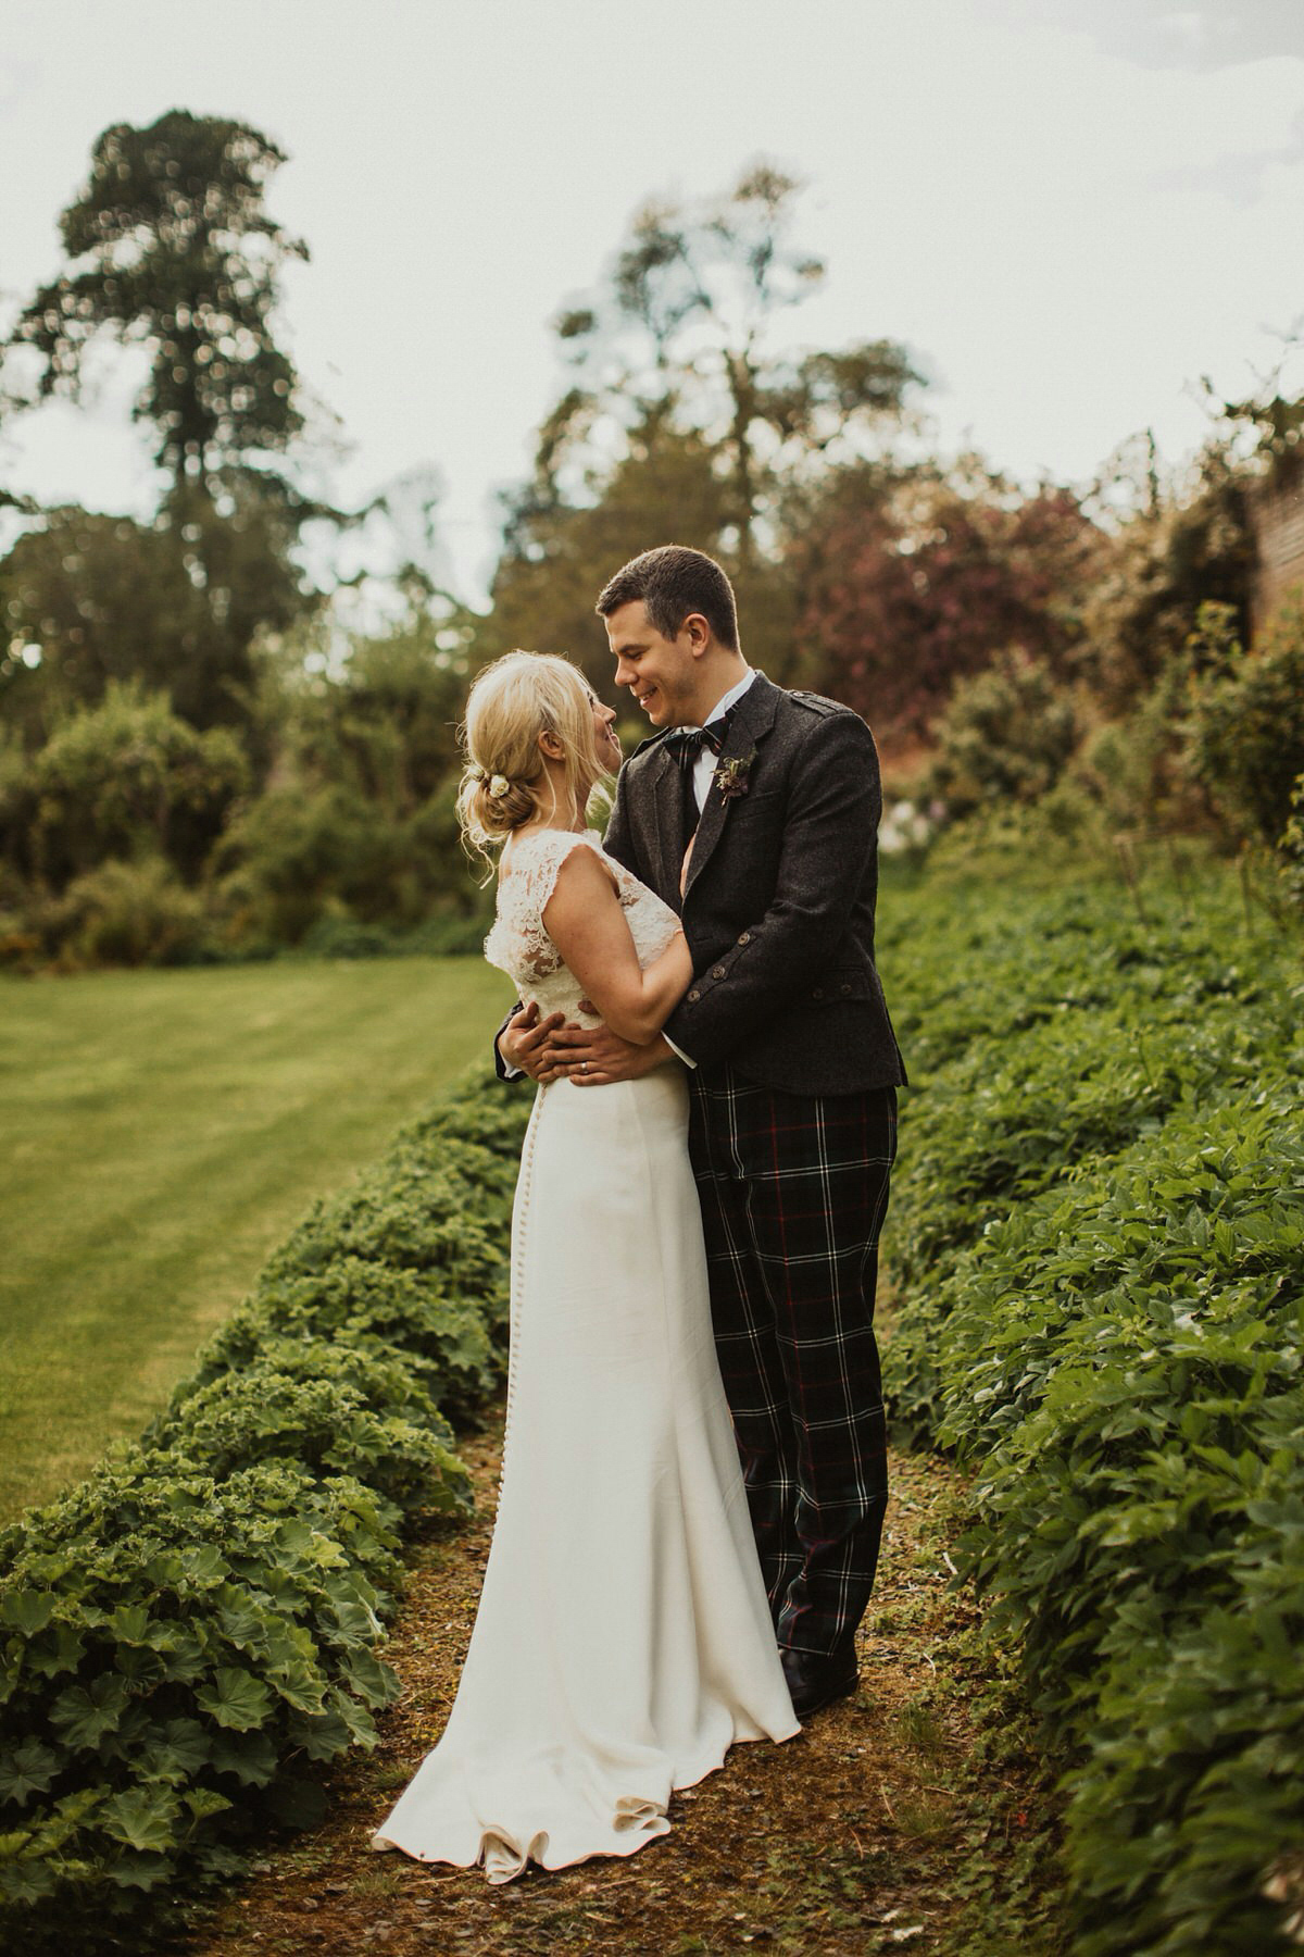
[[[111,121],[252,121],[311,247],[283,337],[350,444],[325,485],[444,483],[461,595],[530,462],[547,331],[641,200],[770,157],[809,182],[811,344],[903,339],[948,446],[1085,481],[1193,384],[1269,370],[1304,319],[1304,0],[0,0],[0,303],[59,268]],[[1304,386],[1300,366],[1292,370]],[[8,485],[147,511],[133,374],[0,438]],[[326,464],[323,464],[326,466]],[[657,542],[657,538],[649,538]]]

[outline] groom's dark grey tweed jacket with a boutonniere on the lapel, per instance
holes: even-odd
[[[790,1094],[856,1094],[905,1080],[874,969],[878,818],[874,738],[858,714],[764,673],[741,697],[712,781],[688,885],[682,771],[657,734],[616,783],[606,847],[684,922],[694,980],[665,1027],[682,1053]],[[737,769],[735,769],[737,775]]]

